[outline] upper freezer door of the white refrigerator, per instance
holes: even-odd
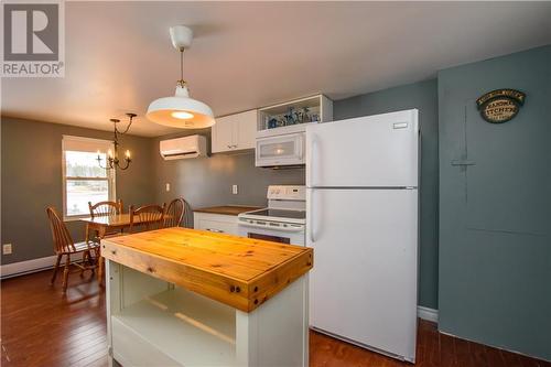
[[[418,110],[306,127],[306,186],[418,186]]]

